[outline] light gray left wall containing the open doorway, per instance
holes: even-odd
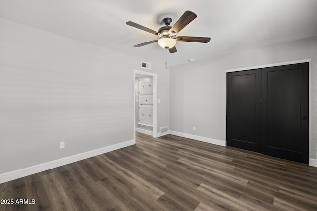
[[[0,174],[133,140],[141,60],[0,19]],[[163,127],[168,72],[156,63],[151,71]]]

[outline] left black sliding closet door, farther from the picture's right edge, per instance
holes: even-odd
[[[227,145],[260,152],[261,69],[227,73]]]

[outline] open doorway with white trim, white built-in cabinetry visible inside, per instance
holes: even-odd
[[[157,74],[134,70],[134,137],[157,136]]]

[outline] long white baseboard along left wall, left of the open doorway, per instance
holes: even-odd
[[[121,149],[123,147],[128,147],[128,146],[131,146],[134,144],[135,144],[135,140],[125,141],[122,143],[114,144],[114,145],[103,147],[100,149],[91,150],[91,151],[80,153],[77,155],[72,155],[72,156],[69,156],[66,158],[61,158],[58,160],[35,165],[32,167],[27,167],[24,169],[18,169],[18,170],[2,173],[2,174],[0,174],[0,184],[14,180],[14,179],[18,179],[18,178],[21,178],[24,176],[28,176],[28,175],[31,175],[34,173],[39,173],[41,171],[53,169],[53,168],[60,167],[60,166],[66,165],[66,164],[70,164],[70,163],[73,163],[76,161],[80,161],[83,159],[94,157],[96,155],[101,155],[101,154],[104,154],[107,152],[111,152],[113,150]]]

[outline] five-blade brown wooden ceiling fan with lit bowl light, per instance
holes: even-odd
[[[163,26],[159,29],[159,32],[149,29],[147,27],[141,26],[132,21],[126,22],[127,25],[133,26],[135,28],[141,29],[146,32],[150,32],[154,35],[160,37],[159,40],[153,40],[149,42],[144,42],[141,44],[134,45],[133,47],[141,47],[147,44],[151,44],[154,42],[159,42],[159,46],[162,48],[166,48],[170,53],[177,52],[175,44],[177,41],[184,42],[203,42],[207,43],[210,41],[210,38],[207,37],[188,37],[188,36],[176,36],[185,26],[187,26],[190,22],[192,22],[197,15],[194,12],[186,11],[184,14],[178,19],[178,21],[174,24],[174,26],[169,26],[172,22],[171,18],[164,18],[163,22],[166,26]]]

